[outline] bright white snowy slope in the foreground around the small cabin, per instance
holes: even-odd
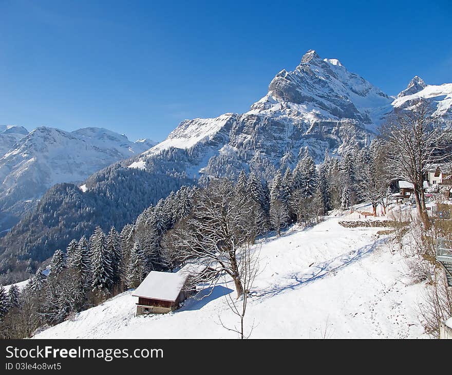
[[[376,235],[384,228],[343,228],[344,218],[256,245],[260,274],[245,318],[245,333],[254,321],[251,338],[428,337],[417,313],[423,284],[410,285],[404,257]],[[218,284],[172,313],[138,317],[127,291],[35,338],[236,338],[220,324],[238,324],[225,298],[233,289]]]

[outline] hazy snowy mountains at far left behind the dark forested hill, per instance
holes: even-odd
[[[155,142],[130,142],[126,136],[103,128],[74,132],[39,127],[28,133],[10,127],[0,133],[14,137],[0,159],[0,209],[18,213],[27,201],[40,198],[55,183],[83,181],[90,174],[118,160],[152,147]],[[0,146],[3,143],[0,143]]]

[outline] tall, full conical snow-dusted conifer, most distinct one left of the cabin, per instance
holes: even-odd
[[[97,227],[91,236],[91,288],[93,292],[107,293],[113,286],[113,269],[111,268],[111,254],[107,250],[105,234]]]

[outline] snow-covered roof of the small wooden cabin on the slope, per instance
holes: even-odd
[[[177,272],[150,271],[132,295],[174,302],[187,278],[204,269],[205,266],[187,264]]]

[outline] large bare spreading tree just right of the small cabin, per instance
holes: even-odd
[[[198,190],[192,214],[166,233],[164,253],[173,264],[190,260],[207,267],[203,277],[212,283],[227,273],[238,298],[243,294],[238,253],[254,242],[264,222],[259,204],[235,194],[230,181],[214,181]]]

